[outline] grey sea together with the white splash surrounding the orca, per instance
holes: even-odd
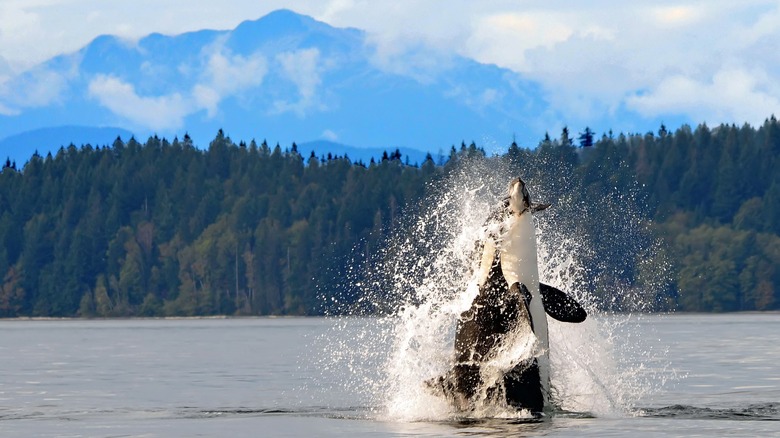
[[[641,263],[659,243],[620,193],[597,205],[609,232],[583,227],[592,203],[566,195],[565,175],[528,180],[534,200],[554,203],[534,216],[540,278],[591,313],[548,318],[556,410],[460,412],[433,394],[424,382],[451,368],[477,293],[475,242],[515,176],[497,166],[438,181],[383,245],[355,254],[343,290],[388,317],[0,321],[0,438],[780,436],[780,314],[600,314],[587,291],[619,267],[594,266],[594,244]],[[642,291],[608,285],[612,304],[652,304],[670,275],[653,260]],[[323,295],[333,314],[354,310]],[[531,354],[535,338],[510,339],[483,370]]]

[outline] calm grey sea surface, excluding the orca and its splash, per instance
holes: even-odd
[[[0,437],[780,436],[780,314],[628,319],[618,363],[652,390],[539,422],[386,417],[354,381],[381,363],[338,360],[389,348],[371,318],[3,320]]]

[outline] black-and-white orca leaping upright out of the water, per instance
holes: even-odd
[[[525,183],[517,178],[510,183],[509,196],[488,217],[486,236],[477,248],[479,293],[458,320],[455,365],[428,382],[459,409],[473,407],[477,399],[504,400],[538,416],[550,406],[545,311],[564,322],[582,322],[587,313],[565,292],[539,282],[532,214],[549,206],[532,203]],[[485,381],[485,363],[517,333],[535,335],[533,352],[503,378]]]

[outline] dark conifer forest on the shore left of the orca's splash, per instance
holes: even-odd
[[[433,163],[367,168],[185,137],[33,157],[0,181],[0,316],[308,314]],[[318,289],[319,287],[319,289]]]

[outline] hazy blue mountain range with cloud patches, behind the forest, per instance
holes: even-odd
[[[328,140],[436,155],[461,141],[489,152],[513,137],[534,146],[565,120],[539,84],[517,73],[425,48],[395,54],[371,41],[289,10],[232,30],[100,36],[0,84],[0,139],[117,126],[140,139],[189,133],[205,147],[222,128],[236,141]],[[77,139],[52,144],[70,142]]]

